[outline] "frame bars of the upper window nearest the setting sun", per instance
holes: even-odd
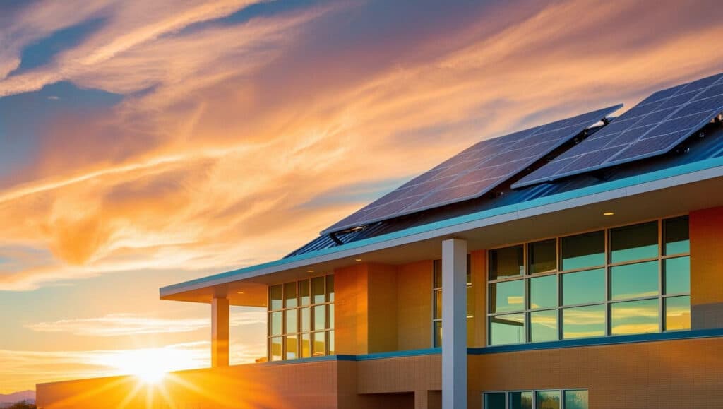
[[[322,278],[324,282],[324,302],[317,303],[314,299],[314,289],[313,289],[313,280]],[[325,276],[315,276],[315,277],[309,277],[308,279],[301,279],[295,282],[283,282],[280,284],[274,284],[270,285],[268,287],[267,292],[267,305],[268,305],[268,313],[267,313],[267,319],[268,319],[268,325],[267,325],[267,359],[272,360],[289,360],[289,359],[299,359],[299,358],[309,358],[312,356],[322,356],[322,355],[334,355],[335,354],[335,348],[331,348],[330,346],[334,344],[334,320],[332,319],[332,315],[335,314],[335,308],[334,308],[334,276],[333,274],[325,275]],[[296,305],[287,307],[286,306],[286,285],[287,284],[295,284],[296,288]],[[301,283],[304,283],[308,286],[308,297],[309,297],[309,303],[302,304],[301,300]],[[271,292],[273,288],[281,287],[281,308],[272,308],[272,299],[271,299]],[[316,313],[315,307],[323,307],[324,309],[324,320],[325,325],[323,329],[317,329],[315,328],[315,319],[316,319]],[[303,325],[304,322],[302,320],[302,314],[304,310],[309,311],[309,328],[307,330],[304,330]],[[288,311],[295,311],[296,312],[296,331],[295,332],[287,332],[286,329],[286,314]],[[272,322],[272,316],[274,313],[281,313],[281,334],[273,334],[273,322]],[[324,350],[317,351],[315,348],[315,334],[323,334],[322,338],[324,340]],[[306,336],[306,337],[304,337]],[[296,356],[293,358],[287,358],[288,355],[288,347],[287,347],[287,340],[291,337],[292,339],[295,337],[296,340],[294,341],[296,343]],[[304,340],[308,339],[309,346],[308,350],[309,353],[304,354]],[[275,355],[273,354],[273,341],[274,340],[281,340],[281,358],[274,358]]]

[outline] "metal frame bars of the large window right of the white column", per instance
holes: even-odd
[[[539,313],[544,311],[556,311],[557,314],[557,339],[556,340],[564,340],[564,326],[563,324],[563,311],[568,308],[576,308],[576,307],[589,307],[594,305],[604,305],[605,313],[604,313],[604,335],[603,336],[610,336],[610,335],[617,335],[612,334],[612,305],[617,303],[626,303],[626,302],[632,302],[632,301],[642,301],[642,300],[658,300],[658,330],[656,332],[667,332],[667,331],[675,331],[675,329],[666,329],[666,301],[669,298],[675,298],[675,297],[690,297],[690,289],[688,292],[675,292],[675,293],[668,293],[667,288],[665,288],[665,261],[668,259],[673,258],[684,258],[684,257],[690,257],[690,250],[688,250],[685,253],[674,253],[674,254],[665,254],[665,231],[664,231],[664,224],[665,222],[674,221],[676,219],[686,219],[688,216],[673,216],[673,217],[667,217],[664,219],[654,219],[649,220],[646,222],[638,222],[634,224],[622,224],[620,226],[613,226],[608,227],[605,229],[596,229],[596,230],[589,230],[586,232],[580,232],[573,235],[565,235],[565,236],[559,236],[559,237],[547,237],[543,238],[541,240],[534,240],[526,243],[516,243],[513,245],[504,245],[497,248],[491,248],[488,251],[488,261],[491,260],[491,257],[489,256],[489,252],[498,250],[500,248],[510,248],[515,247],[518,245],[521,245],[523,248],[523,263],[524,263],[524,274],[518,274],[515,276],[510,277],[502,277],[497,279],[489,279],[489,269],[490,266],[488,266],[487,269],[487,300],[486,300],[486,311],[487,311],[487,345],[492,345],[492,331],[491,331],[491,319],[499,316],[511,316],[515,314],[523,314],[524,315],[524,340],[521,343],[526,342],[535,342],[531,340],[531,332],[532,332],[532,325],[531,325],[531,313]],[[649,222],[656,222],[657,223],[657,245],[658,245],[658,254],[656,257],[651,258],[641,258],[641,259],[635,259],[635,260],[628,260],[628,261],[621,261],[617,263],[612,263],[610,260],[612,258],[612,254],[610,251],[610,232],[614,229],[620,228],[620,227],[632,227],[636,225],[646,224]],[[599,264],[596,266],[585,266],[577,269],[568,269],[568,270],[562,270],[562,239],[565,237],[574,237],[578,235],[585,235],[589,233],[594,232],[604,232],[604,264]],[[557,270],[556,271],[549,271],[544,273],[531,273],[531,263],[529,262],[529,248],[530,245],[533,243],[540,243],[547,240],[555,240],[555,254],[557,258]],[[643,296],[643,297],[636,297],[636,298],[623,298],[620,300],[612,300],[612,290],[611,290],[611,280],[610,276],[612,274],[612,268],[617,266],[628,266],[632,264],[638,264],[638,263],[646,263],[649,261],[657,261],[658,262],[658,294],[657,295],[651,295],[651,296]],[[576,303],[576,304],[569,304],[565,305],[563,303],[563,293],[562,293],[562,277],[566,274],[572,274],[576,272],[582,272],[582,271],[593,271],[602,269],[604,270],[604,300],[602,301],[594,301],[590,303]],[[530,290],[530,283],[531,279],[536,279],[538,277],[549,277],[549,276],[556,276],[557,277],[557,306],[555,308],[531,308],[530,300],[531,300],[531,290]],[[523,280],[523,299],[524,299],[524,309],[523,310],[515,310],[515,311],[503,311],[502,313],[490,313],[490,293],[492,290],[490,290],[490,284],[497,284],[502,282],[514,282],[517,280]],[[573,339],[573,338],[567,338],[567,339]],[[544,342],[544,341],[539,341]],[[497,345],[508,345],[508,344],[497,344]]]

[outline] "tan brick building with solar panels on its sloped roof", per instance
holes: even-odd
[[[281,260],[161,288],[210,305],[212,368],[140,397],[39,384],[38,405],[723,407],[723,74],[618,108],[483,141]],[[268,309],[269,362],[228,366],[229,305]]]

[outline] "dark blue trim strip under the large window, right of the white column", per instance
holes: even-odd
[[[511,353],[532,350],[555,350],[573,347],[596,347],[602,345],[633,344],[638,342],[695,340],[699,338],[723,337],[723,328],[693,329],[690,331],[656,332],[654,334],[615,335],[611,337],[579,338],[549,342],[533,342],[529,344],[499,345],[495,347],[467,348],[468,355],[484,355],[488,353]]]

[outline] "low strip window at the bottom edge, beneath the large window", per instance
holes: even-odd
[[[484,392],[484,409],[588,409],[587,389]]]

